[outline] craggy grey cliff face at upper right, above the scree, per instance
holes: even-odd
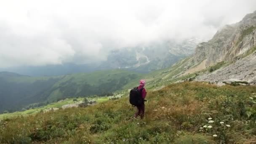
[[[236,24],[226,25],[208,42],[197,45],[193,60],[195,63],[206,60],[206,67],[220,61],[235,61],[255,45],[256,11]]]

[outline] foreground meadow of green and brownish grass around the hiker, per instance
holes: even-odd
[[[5,119],[0,122],[0,142],[249,144],[256,139],[255,92],[253,86],[172,84],[148,93],[144,120],[127,120],[135,109],[121,98],[87,108]],[[213,123],[208,123],[209,117]],[[213,128],[200,129],[203,125]]]

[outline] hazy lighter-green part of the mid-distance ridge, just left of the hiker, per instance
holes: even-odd
[[[66,75],[53,85],[53,91],[48,97],[49,101],[56,100],[61,96],[84,96],[100,94],[98,91],[114,92],[127,88],[131,81],[138,81],[141,74],[124,70],[108,70],[93,73],[80,73]],[[90,86],[90,87],[88,87]],[[92,92],[86,92],[93,89]],[[69,89],[69,90],[68,90]]]

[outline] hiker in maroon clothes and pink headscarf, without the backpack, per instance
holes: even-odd
[[[135,113],[134,117],[140,116],[141,119],[143,119],[143,117],[144,117],[144,112],[145,112],[145,103],[144,103],[144,99],[145,99],[145,97],[146,97],[146,95],[147,95],[147,91],[146,91],[146,89],[144,88],[145,84],[146,84],[146,81],[145,81],[145,80],[140,80],[139,86],[138,86],[138,88],[137,88],[137,89],[141,92],[142,102],[141,102],[141,104],[136,105],[136,107],[137,107],[137,112]]]

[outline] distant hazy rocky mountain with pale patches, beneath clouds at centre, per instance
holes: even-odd
[[[101,69],[124,68],[137,72],[163,69],[170,67],[186,56],[192,55],[199,42],[200,40],[197,38],[182,41],[168,40],[115,50],[109,54],[107,61],[104,61],[100,67]]]

